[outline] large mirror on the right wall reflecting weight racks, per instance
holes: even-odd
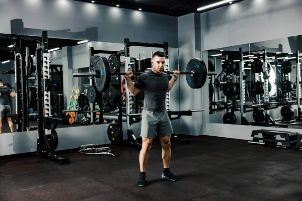
[[[209,76],[210,123],[301,127],[301,42],[293,36],[208,50],[218,73]]]

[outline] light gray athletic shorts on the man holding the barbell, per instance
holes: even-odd
[[[157,132],[158,137],[165,137],[174,133],[167,111],[143,110],[141,116],[141,137],[155,138],[155,132]]]

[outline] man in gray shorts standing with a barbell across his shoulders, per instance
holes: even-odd
[[[131,95],[136,95],[140,90],[144,92],[144,104],[141,120],[142,147],[139,153],[140,174],[138,186],[146,185],[145,168],[148,160],[148,152],[151,149],[155,132],[162,145],[162,158],[164,169],[162,178],[169,181],[176,181],[176,176],[170,171],[169,164],[171,158],[170,138],[173,134],[171,122],[166,110],[166,96],[179,77],[179,71],[173,71],[173,77],[163,72],[165,67],[165,55],[163,52],[156,52],[153,55],[153,68],[146,73],[139,75],[135,84],[131,77],[133,73],[126,71],[125,78],[127,87]]]

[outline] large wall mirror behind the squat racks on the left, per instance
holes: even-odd
[[[13,36],[3,34],[1,40],[0,60],[2,63],[2,76],[4,84],[15,87],[15,49],[22,47],[24,57],[28,54],[32,68],[28,71],[28,127],[36,130],[38,125],[37,115],[37,72],[35,69],[35,50],[39,45],[39,37]],[[122,40],[123,41],[123,40]],[[87,126],[91,124],[107,124],[118,121],[118,108],[121,103],[123,120],[126,113],[126,89],[123,75],[112,75],[111,85],[108,91],[102,92],[99,103],[95,103],[96,115],[91,121],[91,103],[87,97],[87,89],[94,82],[94,77],[73,77],[72,73],[91,72],[91,56],[109,57],[124,49],[123,43],[104,43],[94,41],[79,41],[68,39],[48,38],[49,61],[50,61],[50,84],[51,84],[51,114],[53,117],[63,118],[63,123],[57,128]],[[9,48],[9,49],[7,49]],[[131,47],[130,68],[132,71],[144,72],[152,67],[152,55],[162,48]],[[171,56],[172,57],[172,56]],[[170,59],[171,63],[175,63]],[[116,72],[124,72],[124,56],[120,57],[120,68]],[[177,66],[177,65],[176,65]],[[137,79],[134,77],[133,81]],[[13,89],[15,90],[15,89]],[[143,92],[132,97],[132,113],[141,113],[144,101]],[[10,97],[12,114],[16,113],[16,97]],[[23,109],[22,109],[23,110]],[[74,112],[75,111],[75,112]],[[102,117],[102,119],[100,119]],[[16,120],[13,118],[13,122]],[[14,123],[14,132],[17,131]],[[3,133],[11,132],[6,118],[3,121]]]

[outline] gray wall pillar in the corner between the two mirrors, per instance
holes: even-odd
[[[191,58],[201,58],[199,14],[189,14],[178,18],[179,69],[186,71]],[[206,55],[207,57],[207,55]],[[207,59],[205,60],[207,63]],[[180,76],[180,110],[204,109],[204,112],[193,113],[191,117],[181,117],[181,133],[186,135],[203,134],[203,122],[208,120],[208,80],[200,89],[188,86],[186,77]],[[203,94],[205,92],[205,95]]]

